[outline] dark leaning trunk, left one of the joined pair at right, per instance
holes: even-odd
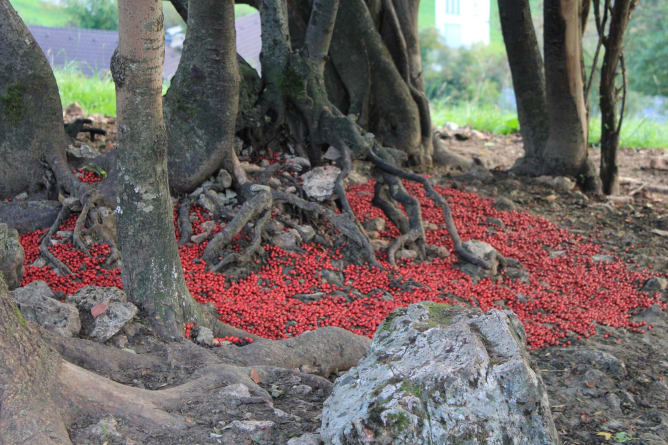
[[[501,31],[508,54],[524,144],[516,168],[535,171],[547,141],[549,120],[545,69],[528,0],[498,0]]]

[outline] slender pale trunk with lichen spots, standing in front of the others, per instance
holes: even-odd
[[[119,36],[111,70],[118,107],[117,233],[123,286],[146,311],[157,335],[178,338],[199,308],[183,278],[167,184],[160,0],[121,0]]]

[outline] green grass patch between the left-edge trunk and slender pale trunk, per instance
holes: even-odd
[[[116,90],[110,74],[84,76],[76,66],[54,71],[63,107],[77,102],[87,114],[116,115]]]

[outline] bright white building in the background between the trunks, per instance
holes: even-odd
[[[452,48],[489,44],[490,0],[436,0],[436,28]]]

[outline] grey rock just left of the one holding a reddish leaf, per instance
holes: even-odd
[[[56,300],[46,282],[33,281],[27,286],[15,289],[11,294],[26,319],[65,337],[79,334],[79,311],[71,304]]]

